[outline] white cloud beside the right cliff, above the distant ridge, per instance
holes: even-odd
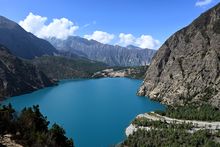
[[[132,34],[119,34],[119,45],[127,46],[127,45],[135,45],[140,48],[149,48],[149,49],[157,49],[160,46],[160,41],[154,39],[150,35],[141,35],[138,38],[135,38]]]

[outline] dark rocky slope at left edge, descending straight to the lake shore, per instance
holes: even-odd
[[[0,99],[53,84],[35,66],[15,57],[6,47],[0,45]]]

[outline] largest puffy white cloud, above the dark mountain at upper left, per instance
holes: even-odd
[[[40,38],[56,37],[58,39],[66,39],[79,28],[66,18],[53,19],[48,25],[46,21],[47,17],[29,13],[23,21],[19,22],[19,25]]]

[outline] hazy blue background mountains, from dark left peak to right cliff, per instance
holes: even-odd
[[[0,16],[0,34],[0,44],[9,48],[13,55],[24,59],[34,59],[43,55],[80,56],[110,66],[141,66],[149,64],[156,52],[135,46],[102,44],[77,36],[70,36],[66,40],[48,38],[49,43],[26,32],[17,23],[3,16]]]

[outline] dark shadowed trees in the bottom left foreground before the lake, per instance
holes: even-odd
[[[48,125],[49,121],[41,114],[38,105],[24,108],[19,114],[11,104],[0,106],[0,136],[11,134],[16,143],[25,147],[74,146],[73,140],[65,136],[65,130],[62,127],[53,124],[49,128]]]

